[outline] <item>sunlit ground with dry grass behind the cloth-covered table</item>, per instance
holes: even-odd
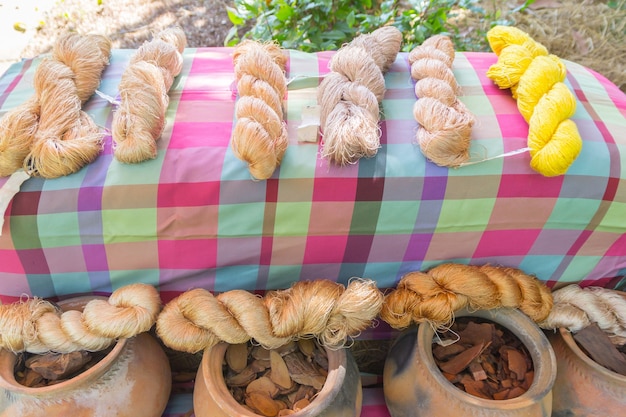
[[[0,0],[0,6],[7,2],[11,3]],[[469,14],[455,23],[462,34],[480,35],[494,19],[508,20],[551,53],[600,72],[626,91],[626,0],[612,1],[617,4],[613,7],[607,0],[535,0],[522,13],[512,12],[520,3],[480,2],[485,13]],[[232,27],[226,12],[232,0],[39,0],[37,4],[46,4],[46,11],[35,23],[22,58],[49,51],[67,31],[101,33],[114,48],[134,49],[172,25],[184,29],[189,47],[223,46]]]

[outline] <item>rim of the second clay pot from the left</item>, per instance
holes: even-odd
[[[226,386],[224,374],[222,373],[222,363],[228,346],[228,343],[220,342],[204,350],[202,362],[200,363],[204,384],[209,392],[215,392],[218,395],[217,398],[221,399],[220,406],[222,411],[226,414],[240,417],[262,417],[260,414],[255,414],[239,404]],[[324,347],[324,349],[328,356],[328,375],[326,376],[324,385],[308,406],[291,414],[294,417],[306,417],[319,414],[324,411],[327,406],[324,400],[326,398],[332,400],[341,391],[347,372],[347,355],[345,348],[330,349]]]

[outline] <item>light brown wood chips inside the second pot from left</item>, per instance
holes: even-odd
[[[268,417],[288,416],[308,406],[328,374],[326,350],[311,339],[272,350],[229,345],[224,362],[224,381],[233,398]]]

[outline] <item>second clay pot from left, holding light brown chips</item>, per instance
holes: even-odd
[[[258,417],[241,406],[230,394],[222,364],[228,344],[220,343],[204,351],[196,376],[193,408],[196,417]],[[363,392],[359,369],[346,349],[326,349],[328,376],[311,404],[293,417],[358,417]]]

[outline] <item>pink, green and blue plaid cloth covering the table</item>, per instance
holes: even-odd
[[[114,50],[86,111],[109,129],[133,50]],[[194,287],[262,292],[297,280],[351,277],[391,288],[443,262],[521,268],[549,285],[616,288],[626,274],[626,96],[566,62],[573,120],[584,140],[564,176],[531,170],[526,152],[458,169],[428,162],[416,144],[407,54],[387,73],[382,146],[345,167],[297,141],[302,110],[333,52],[289,51],[290,144],[267,181],[251,179],[229,147],[237,100],[232,49],[187,49],[170,91],[158,157],[114,160],[111,137],[78,173],[28,179],[5,213],[0,299],[110,293],[133,282],[165,301]],[[32,96],[41,58],[0,78],[0,115]],[[491,53],[459,53],[454,73],[477,116],[478,161],[526,147],[528,126],[508,90],[485,73]],[[0,186],[6,182],[0,179]]]

